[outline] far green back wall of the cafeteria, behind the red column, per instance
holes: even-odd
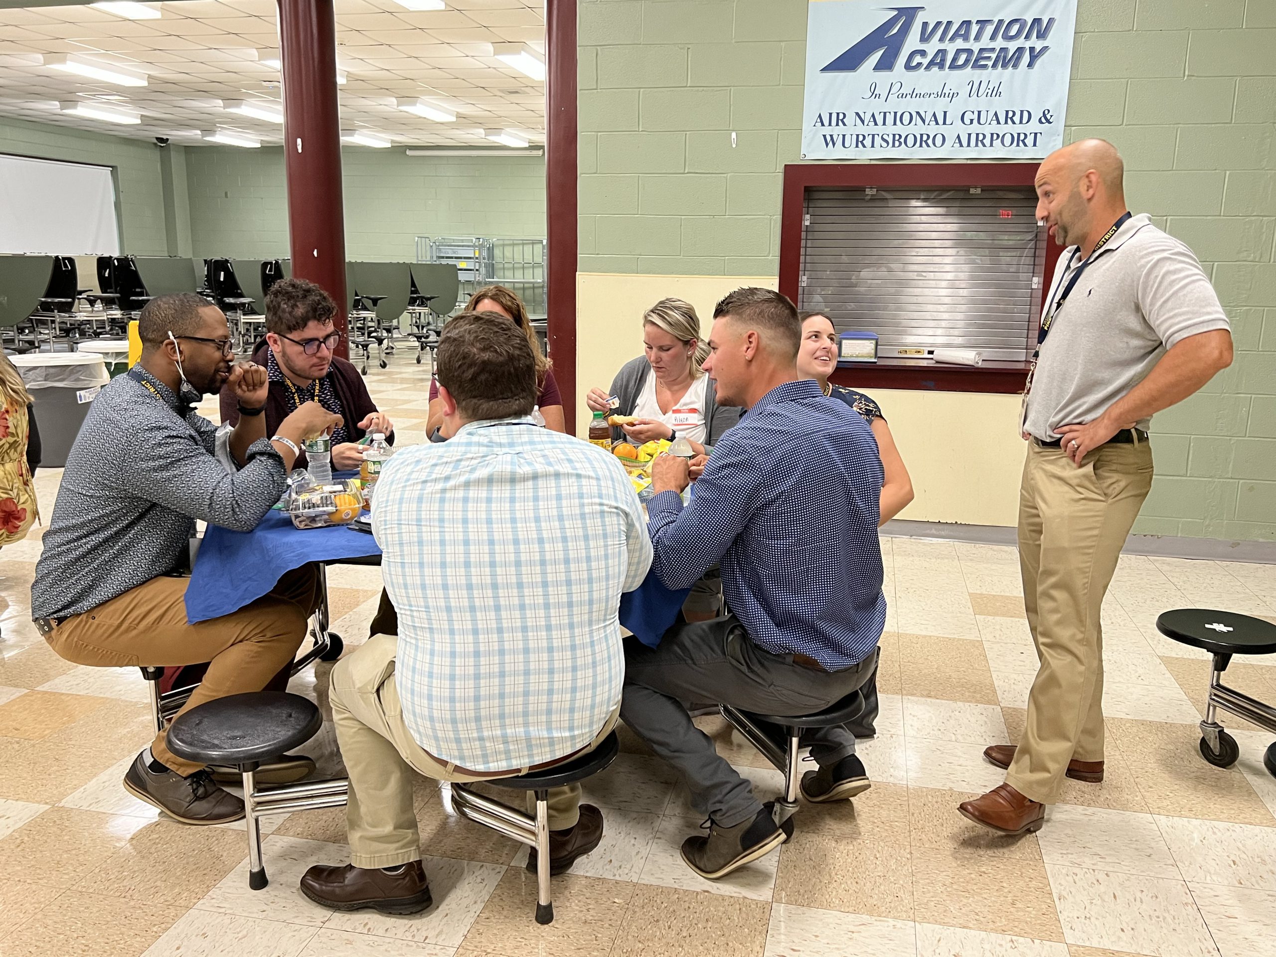
[[[545,161],[532,156],[341,153],[346,255],[416,258],[417,236],[545,236]],[[197,256],[288,255],[288,197],[278,147],[186,151]]]

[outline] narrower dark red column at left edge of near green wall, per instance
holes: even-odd
[[[283,0],[281,0],[283,1]],[[295,0],[293,0],[295,1]],[[575,433],[577,0],[546,0],[545,309],[567,431]]]

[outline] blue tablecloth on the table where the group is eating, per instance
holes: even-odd
[[[251,532],[208,526],[186,586],[186,620],[195,624],[239,611],[308,561],[380,554],[376,540],[366,532],[346,526],[293,528],[283,512],[267,513]],[[620,624],[655,648],[678,618],[688,592],[670,591],[648,573],[637,591],[620,596]]]

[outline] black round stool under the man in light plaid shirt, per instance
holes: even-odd
[[[549,790],[583,781],[602,771],[616,759],[620,743],[612,731],[592,752],[555,764],[542,771],[531,771],[518,777],[495,777],[485,785],[508,787],[513,791],[536,792],[536,817],[501,801],[476,794],[468,785],[452,785],[452,806],[477,824],[499,831],[507,837],[536,849],[536,923],[554,920],[554,898],[550,894],[550,818]]]

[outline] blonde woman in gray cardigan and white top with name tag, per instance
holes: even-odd
[[[680,299],[662,299],[643,314],[644,353],[625,362],[611,392],[590,389],[586,404],[595,412],[632,416],[633,422],[612,427],[612,439],[635,445],[653,439],[685,438],[697,454],[736,424],[740,410],[718,406],[713,380],[701,364],[708,343],[701,338],[695,308]],[[610,396],[620,401],[611,410]]]

